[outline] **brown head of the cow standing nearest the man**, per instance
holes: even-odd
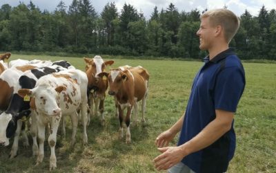
[[[121,69],[112,69],[109,73],[102,72],[99,73],[100,78],[108,78],[109,83],[109,95],[116,95],[121,89],[124,82],[128,80],[126,71],[121,71]]]

